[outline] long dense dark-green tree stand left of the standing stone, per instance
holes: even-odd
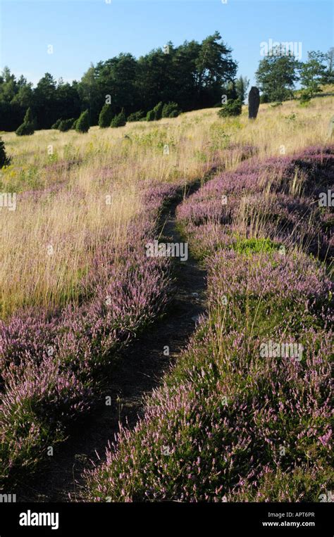
[[[185,42],[154,49],[136,59],[120,53],[91,65],[81,80],[71,84],[46,73],[35,88],[25,77],[4,68],[0,77],[0,129],[15,130],[31,108],[36,127],[49,129],[59,120],[78,118],[88,110],[89,124],[97,125],[101,108],[110,99],[112,115],[147,114],[159,102],[176,103],[189,111],[215,106],[223,84],[235,79],[232,50],[215,32],[199,43]]]

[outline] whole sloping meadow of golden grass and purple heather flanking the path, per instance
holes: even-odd
[[[1,134],[12,157],[1,191],[17,194],[15,211],[0,210],[4,485],[66,441],[120,348],[166,313],[173,261],[147,258],[144,244],[179,199],[208,312],[135,429],[120,427],[86,472],[85,498],[318,501],[330,490],[333,217],[317,199],[333,188],[333,100],[261,105],[252,122],[211,108],[87,134]],[[297,343],[301,360],[261,355],[269,342]]]

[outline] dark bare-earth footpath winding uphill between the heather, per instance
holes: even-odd
[[[190,188],[190,193],[200,185]],[[175,201],[163,212],[160,241],[182,241],[175,222]],[[197,318],[206,310],[206,272],[188,253],[187,261],[174,260],[176,293],[162,320],[156,322],[138,339],[120,352],[113,367],[101,403],[89,414],[84,424],[75,424],[69,440],[55,446],[47,467],[18,488],[17,500],[35,502],[68,502],[81,499],[82,471],[92,468],[92,460],[105,458],[108,442],[115,440],[118,423],[134,427],[144,409],[144,396],[159,386],[166,369],[187,345]],[[163,354],[169,347],[169,356]],[[111,397],[111,405],[105,404]],[[69,496],[70,495],[70,496]]]

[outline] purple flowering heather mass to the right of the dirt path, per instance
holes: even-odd
[[[279,220],[256,229],[240,210],[224,216],[249,190],[255,203],[269,200],[269,179],[278,206],[298,222],[305,207],[298,214],[296,164],[311,165],[306,192],[315,169],[317,183],[329,179],[318,155],[242,164],[178,208],[181,232],[206,259],[209,315],[135,429],[122,427],[106,462],[85,472],[87,499],[318,501],[330,490],[333,284],[325,265],[295,248],[297,234],[278,240]],[[314,206],[313,198],[302,203]],[[266,229],[274,239],[259,235]]]

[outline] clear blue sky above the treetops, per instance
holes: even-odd
[[[221,33],[238,75],[254,83],[260,43],[333,46],[333,2],[327,0],[0,0],[0,68],[36,84],[45,72],[80,80],[91,62],[120,52],[138,57],[172,41],[202,41]],[[47,53],[52,45],[53,54]]]

